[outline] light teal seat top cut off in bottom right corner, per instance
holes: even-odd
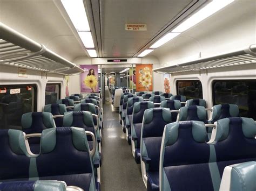
[[[256,161],[226,166],[220,183],[220,191],[256,190]]]

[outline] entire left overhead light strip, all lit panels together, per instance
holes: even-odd
[[[80,37],[85,48],[95,48],[88,18],[84,9],[83,0],[61,0],[61,2],[69,15],[71,22],[75,26],[78,36]],[[94,51],[93,49],[86,50],[91,57],[97,57],[97,52],[95,49]]]

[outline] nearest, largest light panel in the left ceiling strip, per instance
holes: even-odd
[[[61,0],[77,31],[90,31],[83,0]]]

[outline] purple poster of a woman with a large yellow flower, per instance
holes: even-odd
[[[81,93],[98,93],[98,65],[80,65],[84,73],[80,74]]]

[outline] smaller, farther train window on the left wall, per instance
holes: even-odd
[[[48,83],[45,87],[45,105],[60,99],[60,83]]]

